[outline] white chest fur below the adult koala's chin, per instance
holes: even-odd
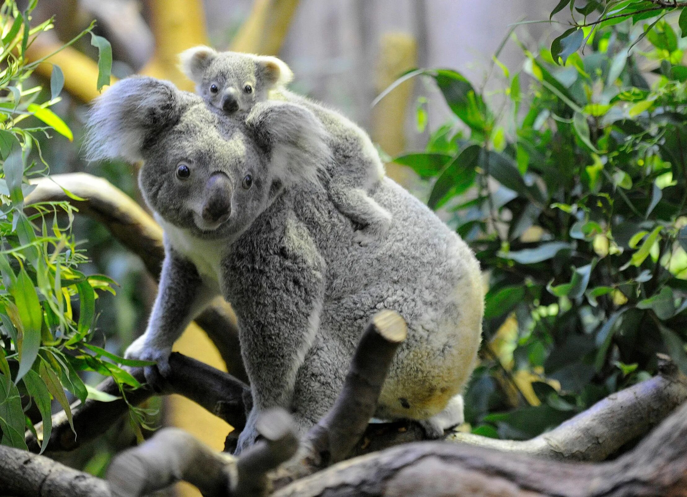
[[[220,264],[227,253],[227,240],[203,240],[183,228],[179,228],[155,216],[165,232],[172,249],[185,255],[196,266],[203,279],[214,284],[221,284]]]

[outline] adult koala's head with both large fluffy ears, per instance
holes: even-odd
[[[200,238],[234,238],[284,189],[321,187],[330,155],[322,124],[302,106],[263,102],[232,117],[145,77],[98,97],[87,128],[88,159],[143,161],[150,209]]]

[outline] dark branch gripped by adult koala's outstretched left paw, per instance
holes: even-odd
[[[178,353],[170,356],[171,374],[161,384],[163,395],[178,393],[196,402],[210,413],[224,419],[236,430],[240,431],[246,422],[246,408],[244,397],[250,390],[246,384],[236,380],[232,375],[210,367],[203,362],[183,356]],[[134,377],[141,383],[144,378],[143,368],[131,370]],[[120,395],[115,382],[108,378],[99,386],[98,390],[111,395]],[[155,395],[152,389],[144,386],[126,394],[129,404],[137,405]],[[128,410],[124,400],[113,402],[98,402],[87,400],[85,404],[75,402],[72,405],[74,430],[78,437],[74,436],[67,422],[64,411],[60,411],[52,417],[52,434],[48,442],[50,451],[74,450],[83,443],[102,435],[110,426],[119,421]],[[42,424],[36,425],[36,432],[41,437]],[[38,442],[31,432],[27,432],[26,443],[29,450],[38,452]]]

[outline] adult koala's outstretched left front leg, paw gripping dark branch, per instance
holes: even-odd
[[[165,375],[172,345],[216,294],[203,284],[192,262],[172,249],[166,250],[148,327],[126,349],[124,357],[156,361],[157,370]],[[146,368],[146,380],[153,385],[158,380],[155,373],[155,369]]]

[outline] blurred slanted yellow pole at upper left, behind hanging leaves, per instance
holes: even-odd
[[[28,60],[38,60],[59,49],[62,43],[47,41],[47,36],[38,38],[27,49]],[[36,73],[49,79],[52,65],[60,66],[65,73],[65,89],[82,102],[89,102],[100,95],[95,89],[98,82],[98,64],[80,51],[67,47],[36,67]],[[117,78],[111,78],[115,82]]]

